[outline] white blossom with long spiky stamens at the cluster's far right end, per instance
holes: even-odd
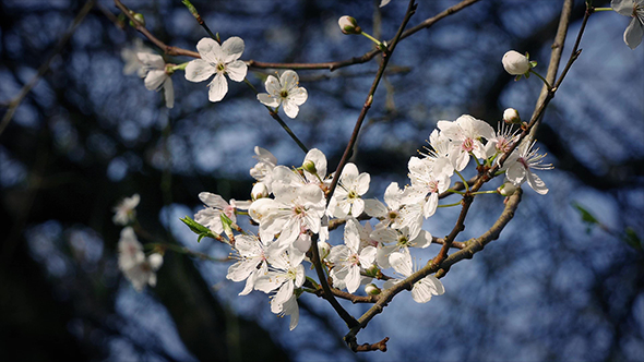
[[[541,179],[533,172],[533,170],[550,170],[552,165],[541,165],[546,155],[538,155],[537,149],[533,149],[535,142],[523,142],[514,149],[503,164],[505,169],[505,178],[515,186],[520,186],[523,182],[527,184],[540,195],[548,193],[548,188]]]

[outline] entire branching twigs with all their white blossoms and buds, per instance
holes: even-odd
[[[571,1],[565,1],[562,17],[567,9],[572,8]],[[636,47],[642,38],[642,1],[612,0],[612,9],[608,8],[634,17],[624,33],[624,41],[631,48]],[[170,53],[171,50],[177,53],[177,49],[152,36],[141,23],[141,19],[127,12],[127,8],[119,0],[115,2],[136,29],[166,52]],[[476,0],[464,0],[449,9],[445,14],[453,14],[474,2]],[[382,0],[380,7],[387,3],[387,0]],[[380,52],[382,57],[347,150],[335,171],[330,171],[326,156],[322,150],[308,149],[278,116],[278,109],[283,108],[287,117],[297,117],[299,107],[309,97],[307,89],[299,85],[296,67],[288,69],[286,65],[277,64],[283,71],[275,75],[260,75],[266,92],[259,93],[247,79],[249,68],[258,62],[240,59],[245,50],[243,40],[230,37],[222,43],[218,34],[213,35],[204,24],[202,26],[211,37],[199,40],[198,53],[179,49],[179,53],[196,58],[189,62],[178,65],[166,63],[162,56],[141,45],[135,45],[122,53],[127,61],[123,72],[136,72],[145,79],[144,84],[148,89],[163,88],[168,108],[174,106],[171,75],[177,71],[184,71],[184,77],[190,82],[203,82],[212,77],[207,85],[207,97],[213,102],[222,101],[227,94],[226,77],[234,82],[245,82],[253,89],[257,100],[267,108],[270,116],[306,152],[301,165],[287,167],[278,165],[271,152],[255,147],[257,164],[250,169],[250,174],[257,182],[248,200],[227,202],[216,193],[202,192],[199,198],[205,207],[194,215],[194,219],[186,217],[182,221],[199,234],[198,241],[212,238],[228,244],[236,262],[229,266],[227,279],[245,283],[240,295],[253,290],[269,294],[271,311],[281,316],[290,316],[290,329],[298,325],[297,300],[302,293],[326,299],[347,323],[349,333],[345,340],[354,351],[386,350],[387,338],[375,345],[366,343],[368,347],[360,347],[355,335],[403,289],[409,290],[412,298],[418,303],[429,302],[434,295],[445,292],[440,278],[448,273],[450,265],[455,263],[448,257],[450,248],[465,245],[461,248],[466,249],[469,248],[467,245],[474,245],[467,252],[475,253],[482,249],[485,243],[498,238],[504,225],[512,218],[513,210],[504,213],[484,237],[472,244],[455,241],[456,236],[465,227],[465,216],[475,197],[482,196],[489,197],[491,202],[501,202],[501,196],[514,194],[515,207],[521,196],[517,190],[524,183],[538,194],[548,193],[548,188],[535,171],[548,170],[552,166],[544,164],[545,155],[539,154],[535,147],[533,134],[545,108],[581,52],[577,47],[584,26],[559,80],[556,79],[558,61],[561,58],[558,47],[552,48],[556,60],[551,61],[546,76],[535,71],[537,63],[529,60],[527,52],[525,56],[514,50],[505,52],[501,63],[509,74],[516,76],[516,81],[534,74],[546,85],[530,120],[522,121],[513,108],[504,111],[503,121],[499,122],[497,129],[489,122],[469,114],[463,114],[453,121],[439,120],[437,129],[429,134],[425,150],[408,160],[408,184],[401,186],[396,182],[391,182],[381,201],[368,196],[371,177],[367,172],[360,172],[355,164],[348,162],[347,155],[355,145],[362,120],[373,102],[375,88],[397,43],[422,28],[422,24],[431,25],[442,19],[437,16],[427,20],[416,26],[414,32],[404,33],[416,8],[415,1],[410,0],[396,36],[389,41],[379,40],[366,33],[351,16],[345,15],[338,20],[342,33],[365,36],[373,41],[374,51]],[[194,7],[190,5],[189,9],[193,15],[196,13]],[[584,24],[591,13],[599,10],[601,9],[588,5]],[[195,17],[201,19],[199,14]],[[560,24],[557,35],[559,44],[563,43],[567,28],[568,24]],[[337,64],[342,63],[344,67],[358,63],[359,60],[355,59],[358,58]],[[327,69],[333,70],[337,64],[331,64]],[[298,67],[307,68],[306,64]],[[472,162],[476,166],[468,169]],[[476,170],[476,174],[466,178],[464,173],[473,169]],[[481,191],[488,181],[502,174],[505,178],[502,185],[496,190]],[[450,195],[461,198],[454,203],[441,204],[441,200]],[[115,222],[131,225],[133,208],[138,202],[138,197],[126,200],[118,206],[115,209]],[[425,220],[436,215],[441,207],[461,207],[452,232],[442,239],[432,237],[429,230],[424,229]],[[238,224],[239,217],[248,217],[251,228],[242,229]],[[427,252],[433,242],[442,246],[437,255],[431,256]],[[136,241],[134,229],[130,226],[121,233],[119,250],[119,265],[134,287],[142,290],[146,283],[153,286],[156,280],[154,272],[163,262],[160,254],[152,253],[145,256]],[[178,251],[190,254],[184,250]],[[426,264],[419,262],[420,255],[427,257]],[[460,255],[457,261],[462,258],[464,256]],[[307,276],[306,270],[309,266],[315,268],[318,280]],[[365,286],[363,290],[360,289],[361,286]],[[356,319],[344,311],[335,298],[374,303],[374,309]]]

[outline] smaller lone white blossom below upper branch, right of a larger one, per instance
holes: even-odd
[[[276,79],[269,75],[265,87],[267,93],[258,94],[258,100],[269,107],[282,105],[284,112],[289,118],[296,118],[299,106],[307,101],[307,89],[298,86],[299,77],[296,72],[288,70]]]

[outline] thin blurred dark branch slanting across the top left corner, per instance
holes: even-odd
[[[36,84],[43,77],[43,75],[45,75],[45,73],[47,73],[47,71],[49,71],[49,65],[51,64],[51,61],[53,60],[53,58],[62,51],[62,48],[64,48],[64,46],[67,45],[69,39],[72,37],[72,35],[74,34],[74,32],[76,31],[79,25],[83,22],[83,20],[87,15],[87,13],[90,13],[90,10],[92,10],[95,2],[96,2],[96,0],[90,0],[90,1],[85,2],[85,4],[81,9],[81,11],[76,15],[76,17],[74,17],[70,27],[67,29],[67,32],[63,34],[63,36],[60,38],[60,40],[58,40],[58,44],[56,45],[56,48],[53,48],[53,51],[51,52],[49,58],[47,58],[47,60],[43,64],[40,64],[40,67],[38,68],[38,71],[36,72],[36,75],[34,75],[34,77],[32,77],[32,80],[27,84],[25,84],[22,87],[22,89],[20,89],[20,93],[17,94],[17,96],[15,96],[15,98],[13,98],[9,102],[9,109],[7,110],[7,113],[4,113],[4,116],[2,117],[2,121],[0,121],[0,135],[2,135],[2,132],[4,132],[4,129],[7,129],[7,126],[9,125],[11,120],[13,119],[13,114],[15,114],[17,107],[22,104],[22,101],[27,96],[27,94],[29,94],[29,92],[32,92],[32,88],[36,86]]]

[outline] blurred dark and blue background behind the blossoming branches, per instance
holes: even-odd
[[[407,2],[194,1],[222,39],[246,41],[241,59],[322,62],[372,49],[345,36],[337,19],[391,39]],[[596,1],[597,2],[597,1]],[[414,26],[456,1],[419,1]],[[194,50],[206,36],[179,0],[124,4],[144,14],[168,45]],[[141,195],[138,217],[156,239],[215,257],[229,249],[196,237],[179,221],[203,206],[202,191],[247,200],[253,147],[282,165],[303,153],[243,83],[229,82],[223,101],[207,100],[207,83],[174,76],[176,105],[124,75],[121,50],[143,39],[99,0],[61,38],[85,1],[0,2],[0,114],[52,55],[49,70],[0,134],[0,350],[9,361],[629,361],[644,355],[644,46],[622,40],[630,19],[591,16],[582,56],[537,134],[551,171],[550,189],[525,189],[515,219],[485,251],[452,267],[444,295],[427,304],[395,298],[358,335],[390,337],[386,353],[354,354],[346,327],[321,299],[298,300],[300,322],[270,313],[261,292],[238,297],[225,278],[229,263],[167,252],[158,283],[136,292],[118,269],[121,228],[112,207]],[[514,82],[501,58],[529,51],[545,75],[562,1],[480,1],[405,39],[375,94],[354,162],[371,173],[367,196],[382,200],[390,182],[408,183],[407,160],[439,120],[467,113],[494,128],[503,109],[529,118],[540,81]],[[606,1],[596,5],[609,5]],[[575,1],[564,48],[584,14]],[[57,51],[57,47],[60,51]],[[165,57],[181,63],[188,58]],[[309,148],[337,165],[378,68],[378,59],[334,72],[299,71],[309,93],[299,116],[283,119]],[[563,68],[563,63],[560,70]],[[263,90],[272,70],[249,69]],[[282,113],[283,114],[283,113]],[[473,169],[466,174],[474,176]],[[494,180],[490,188],[502,180]],[[448,198],[444,202],[455,202]],[[458,240],[487,230],[502,209],[499,196],[474,203]],[[581,212],[579,207],[588,214]],[[426,221],[444,236],[458,209]],[[337,243],[339,236],[334,236]],[[150,242],[140,237],[145,243]],[[437,246],[421,254],[424,262]],[[354,315],[366,305],[346,307]]]

